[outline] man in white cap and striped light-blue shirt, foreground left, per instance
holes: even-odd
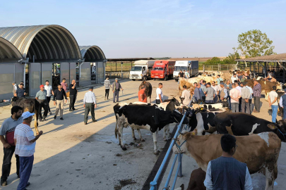
[[[42,135],[42,131],[40,131],[35,137],[34,132],[32,132],[30,124],[33,115],[35,113],[24,112],[22,115],[23,123],[19,124],[15,129],[15,154],[19,156],[20,160],[20,182],[17,190],[25,190],[25,187],[30,185],[28,181],[32,172],[36,141]]]

